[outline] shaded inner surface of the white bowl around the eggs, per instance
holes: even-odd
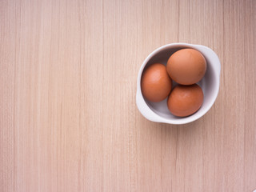
[[[177,50],[181,50],[184,48],[193,48],[195,50],[198,50],[196,46],[172,46],[172,47],[166,47],[165,49],[159,50],[156,54],[154,54],[150,60],[146,63],[146,66],[144,67],[144,70],[147,66],[150,66],[154,64],[155,62],[160,62],[164,65],[166,65],[168,58],[170,58],[171,54],[174,54]],[[200,50],[199,50],[200,51]],[[200,51],[202,53],[202,51]],[[203,54],[203,53],[202,53]],[[192,116],[197,115],[202,116],[201,114],[206,113],[206,110],[209,109],[209,106],[212,105],[214,98],[214,92],[218,91],[218,82],[216,81],[216,74],[214,74],[214,68],[213,68],[213,61],[210,61],[210,57],[208,57],[206,54],[203,54],[206,58],[207,62],[207,68],[206,68],[206,74],[202,78],[200,82],[198,82],[198,86],[202,88],[203,94],[204,94],[204,101],[202,103],[201,108],[194,114],[191,114],[188,117],[185,118],[178,118],[170,113],[167,107],[167,98],[163,100],[162,102],[150,102],[144,98],[147,106],[150,107],[151,110],[154,111],[155,114],[158,114],[162,118],[166,118],[169,120],[180,120],[180,119],[186,119],[186,118],[192,118]],[[177,83],[173,81],[173,87],[176,86]]]

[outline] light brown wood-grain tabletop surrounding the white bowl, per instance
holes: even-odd
[[[256,1],[0,1],[0,191],[256,189]],[[135,106],[151,51],[212,48],[211,110],[149,122]]]

